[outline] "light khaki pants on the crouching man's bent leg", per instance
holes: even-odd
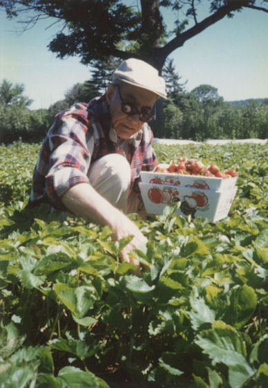
[[[99,158],[90,166],[88,179],[95,190],[119,210],[146,216],[140,192],[133,189],[128,195],[131,167],[124,156],[108,154]]]

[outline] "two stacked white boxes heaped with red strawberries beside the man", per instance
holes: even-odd
[[[236,194],[234,169],[221,172],[216,164],[180,158],[141,172],[140,190],[148,213],[162,214],[166,204],[180,201],[178,214],[218,221],[227,216]]]

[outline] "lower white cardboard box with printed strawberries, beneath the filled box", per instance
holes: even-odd
[[[189,176],[189,178],[197,177]],[[222,181],[229,181],[229,179],[231,178]],[[162,214],[166,205],[181,201],[177,214],[184,216],[191,214],[192,219],[205,217],[213,222],[219,221],[228,215],[237,190],[236,185],[230,186],[228,190],[221,191],[144,182],[140,182],[139,186],[146,212],[149,214]]]

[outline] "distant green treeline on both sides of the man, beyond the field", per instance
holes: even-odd
[[[268,98],[225,102],[218,90],[200,85],[191,92],[178,82],[172,68],[165,79],[169,98],[157,101],[157,120],[151,124],[157,138],[203,141],[268,137]],[[23,85],[8,80],[0,84],[0,143],[16,140],[39,142],[55,115],[75,102],[88,102],[103,92],[93,80],[75,84],[64,100],[48,109],[30,110],[31,100],[23,96]]]

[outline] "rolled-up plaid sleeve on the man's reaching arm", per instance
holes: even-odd
[[[57,122],[48,138],[49,165],[45,190],[52,206],[62,208],[61,196],[79,183],[88,183],[91,155],[86,147],[88,124],[71,114]]]

